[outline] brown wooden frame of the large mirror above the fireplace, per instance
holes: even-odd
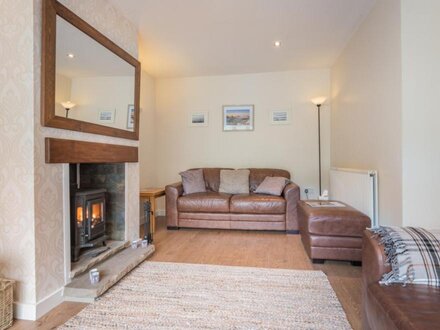
[[[56,60],[56,22],[57,16],[63,18],[78,30],[100,43],[135,69],[134,77],[134,131],[107,127],[72,118],[55,115],[55,60]],[[118,138],[139,140],[139,98],[141,64],[128,52],[116,45],[93,26],[67,9],[56,0],[43,1],[43,30],[41,57],[41,123],[43,126],[68,129],[73,131],[108,135]]]

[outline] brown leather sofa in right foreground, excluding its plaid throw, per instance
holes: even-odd
[[[366,230],[362,254],[363,328],[440,329],[440,289],[421,284],[382,286],[378,281],[390,271],[383,246]]]

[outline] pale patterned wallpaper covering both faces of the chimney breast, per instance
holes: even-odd
[[[61,2],[137,57],[136,28],[106,0]],[[41,127],[42,0],[33,5],[0,0],[0,276],[17,280],[15,300],[29,304],[64,286],[62,165],[45,164],[44,138],[138,146]],[[139,165],[127,164],[126,171],[126,237],[132,239],[139,236]]]

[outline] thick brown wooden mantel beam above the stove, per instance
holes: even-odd
[[[46,138],[46,163],[136,163],[138,148]]]

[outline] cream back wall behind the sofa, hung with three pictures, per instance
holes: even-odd
[[[302,188],[318,191],[317,110],[328,96],[328,70],[209,76],[156,81],[157,184],[179,181],[192,167],[274,167]],[[255,130],[223,132],[222,105],[254,104]],[[290,110],[290,125],[271,125],[270,112]],[[209,112],[208,127],[190,127],[192,111]],[[330,107],[322,110],[323,187],[328,186]]]

